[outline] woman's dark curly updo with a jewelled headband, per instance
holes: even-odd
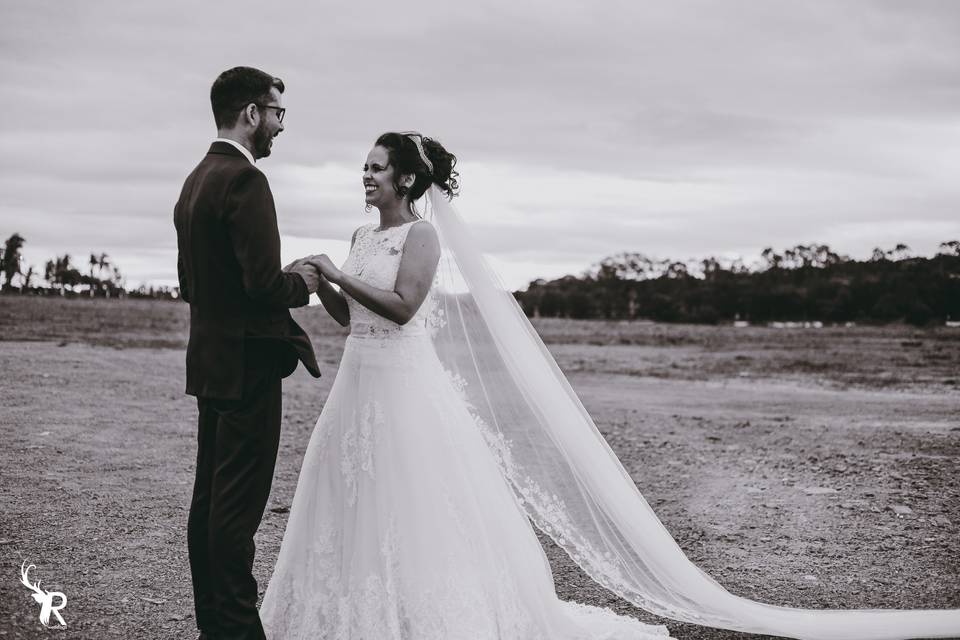
[[[390,164],[394,168],[393,188],[397,196],[410,196],[410,202],[419,200],[431,184],[437,185],[448,198],[457,195],[460,174],[454,168],[457,157],[434,140],[410,131],[405,133],[385,133],[377,138],[376,145],[387,150]],[[423,154],[421,155],[421,149]],[[401,186],[400,177],[413,174],[410,187]]]

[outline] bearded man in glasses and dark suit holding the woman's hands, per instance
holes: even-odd
[[[281,379],[310,339],[287,310],[307,304],[319,274],[280,268],[273,196],[255,161],[283,131],[283,81],[236,67],[213,83],[218,137],[174,208],[180,294],[190,303],[187,389],[197,397],[197,475],[187,525],[200,639],[262,640],[253,536],[280,441]]]

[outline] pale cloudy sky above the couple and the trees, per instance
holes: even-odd
[[[960,3],[0,0],[0,235],[176,281],[172,209],[231,66],[284,79],[287,258],[345,256],[376,136],[460,157],[520,287],[640,251],[960,239]],[[0,239],[2,240],[2,239]]]

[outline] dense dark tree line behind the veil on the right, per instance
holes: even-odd
[[[853,260],[822,244],[742,260],[608,257],[581,276],[534,280],[514,294],[529,316],[659,322],[908,322],[960,319],[960,241],[932,258],[904,244]]]

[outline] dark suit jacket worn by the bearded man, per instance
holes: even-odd
[[[297,360],[318,377],[310,339],[288,311],[309,293],[281,269],[266,176],[239,149],[214,142],[183,184],[173,220],[180,295],[190,303],[187,393],[240,398],[245,352],[275,354],[284,377]]]

